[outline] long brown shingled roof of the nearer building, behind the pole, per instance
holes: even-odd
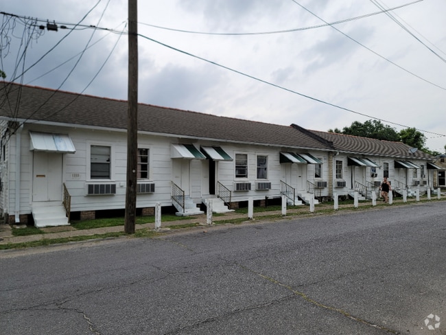
[[[0,89],[0,116],[27,121],[127,128],[127,102],[91,95],[54,91],[36,86],[5,84]],[[329,150],[327,143],[290,126],[220,117],[175,108],[138,105],[138,130],[178,137],[195,137],[239,143]]]

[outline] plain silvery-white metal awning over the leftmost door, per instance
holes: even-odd
[[[67,134],[30,131],[30,150],[74,154],[76,149]]]

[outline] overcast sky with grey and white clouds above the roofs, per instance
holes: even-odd
[[[375,14],[413,1],[139,1],[139,102],[322,131],[376,117],[426,130],[427,147],[444,152],[446,1],[390,11],[403,27]],[[30,20],[3,15],[0,68],[7,80],[31,67],[15,81],[126,100],[127,36],[110,30],[126,32],[127,2],[0,0],[1,12],[59,27],[33,34],[23,67]],[[253,34],[266,32],[277,33]]]

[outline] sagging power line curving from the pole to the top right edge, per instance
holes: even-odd
[[[346,22],[355,21],[355,20],[358,20],[358,19],[364,19],[364,18],[369,17],[369,16],[373,16],[373,15],[377,15],[377,14],[383,14],[385,12],[390,12],[391,10],[397,10],[399,8],[406,7],[408,5],[413,5],[414,3],[421,2],[421,1],[423,1],[423,0],[416,0],[414,2],[406,3],[404,5],[399,5],[397,7],[389,8],[387,10],[382,9],[379,12],[373,12],[373,13],[370,13],[370,14],[364,14],[364,15],[361,15],[361,16],[355,16],[355,17],[352,17],[350,19],[344,19],[344,20],[335,21],[335,22],[331,22],[331,23],[325,23],[323,25],[312,25],[310,27],[293,28],[293,29],[287,29],[287,30],[274,30],[272,32],[235,32],[235,33],[231,33],[231,32],[197,32],[197,31],[191,31],[191,30],[181,30],[181,29],[175,29],[175,28],[169,28],[169,27],[161,27],[160,25],[151,25],[150,23],[142,23],[142,22],[138,22],[138,23],[140,25],[147,25],[148,27],[154,27],[154,28],[163,29],[163,30],[170,30],[172,32],[182,32],[182,33],[187,33],[187,34],[218,35],[218,36],[246,36],[246,35],[283,34],[283,33],[289,33],[289,32],[300,32],[302,30],[311,30],[311,29],[316,29],[316,28],[320,28],[320,27],[327,27],[329,25],[338,25],[340,23],[346,23]]]

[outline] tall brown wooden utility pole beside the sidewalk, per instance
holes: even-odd
[[[124,231],[134,233],[138,170],[138,1],[128,0],[127,187]]]

